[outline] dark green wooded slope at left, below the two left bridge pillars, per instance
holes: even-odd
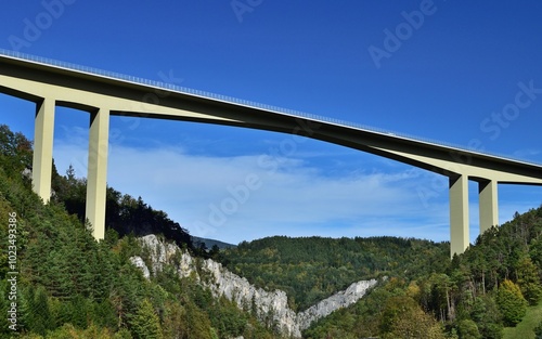
[[[43,205],[24,173],[30,165],[30,142],[0,126],[0,338],[276,338],[172,269],[145,279],[129,261],[145,258],[133,235],[108,229],[96,243],[79,216],[66,211],[79,211],[82,181],[56,175],[56,195]],[[108,204],[120,204],[108,220],[119,230],[162,227],[190,249],[181,243],[185,230],[165,213],[142,199],[113,196]]]

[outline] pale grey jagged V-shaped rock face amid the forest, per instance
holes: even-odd
[[[238,308],[256,312],[260,321],[276,324],[282,334],[296,338],[300,338],[301,330],[308,328],[312,322],[357,302],[377,283],[376,279],[353,283],[346,290],[320,301],[304,312],[296,313],[288,308],[286,292],[282,290],[266,291],[256,288],[246,278],[231,273],[222,268],[222,264],[210,259],[199,262],[201,274],[198,274],[196,259],[177,246],[164,244],[152,234],[140,239],[151,251],[153,274],[162,270],[164,264],[175,264],[180,276],[194,275],[216,297],[224,296],[234,301]],[[144,275],[146,272],[145,277],[149,278],[150,270],[143,260],[140,257],[132,257],[130,260],[143,271]]]

